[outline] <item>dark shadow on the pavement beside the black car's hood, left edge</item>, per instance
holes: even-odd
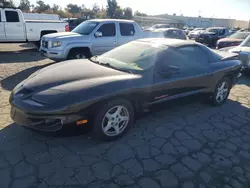
[[[31,68],[25,69],[21,72],[18,72],[16,74],[13,74],[13,75],[1,80],[1,86],[5,90],[12,91],[16,87],[17,84],[19,84],[20,82],[22,82],[23,80],[28,78],[31,74],[33,74],[34,72],[36,72],[42,68],[45,68],[49,65],[52,65],[54,63],[55,62],[48,63],[45,65],[40,65],[40,66],[34,66]]]

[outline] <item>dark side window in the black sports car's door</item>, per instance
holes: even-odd
[[[178,48],[178,51],[194,66],[204,66],[209,62],[205,52],[198,46],[185,46]]]

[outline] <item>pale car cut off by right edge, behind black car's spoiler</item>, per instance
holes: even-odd
[[[220,51],[236,53],[242,62],[242,70],[248,75],[250,73],[250,35],[239,45],[221,48]]]

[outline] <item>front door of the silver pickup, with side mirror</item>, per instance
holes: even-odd
[[[100,55],[117,47],[116,23],[103,23],[92,38],[92,55]]]

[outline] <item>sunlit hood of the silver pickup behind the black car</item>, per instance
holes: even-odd
[[[73,33],[73,32],[60,32],[60,33],[52,33],[52,34],[48,34],[48,35],[45,35],[43,38],[45,39],[54,39],[54,40],[63,40],[63,39],[69,39],[69,40],[72,40],[72,39],[77,39],[81,37],[81,40],[82,38],[86,38],[86,39],[89,39],[89,36],[84,36],[84,35],[80,35],[79,33]]]

